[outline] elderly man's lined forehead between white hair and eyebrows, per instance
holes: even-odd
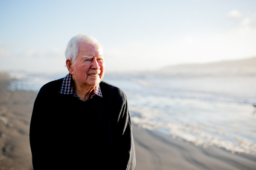
[[[102,47],[99,44],[92,43],[80,43],[79,44],[79,55],[87,56],[102,56]]]

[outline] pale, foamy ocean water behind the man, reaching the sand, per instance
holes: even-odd
[[[67,73],[12,72],[10,90],[38,92]],[[105,74],[122,89],[133,124],[197,146],[256,154],[256,74]]]

